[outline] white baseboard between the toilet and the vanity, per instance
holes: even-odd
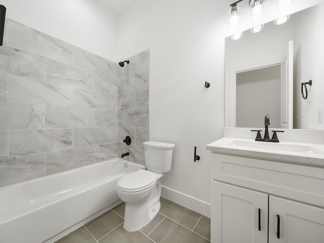
[[[168,187],[162,186],[161,196],[191,209],[199,214],[211,217],[211,205],[206,201],[199,200],[192,196],[185,195]]]

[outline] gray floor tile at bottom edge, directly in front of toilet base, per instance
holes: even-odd
[[[140,231],[128,232],[124,230],[123,225],[114,229],[111,233],[107,234],[99,243],[154,243],[151,239],[145,236]],[[174,241],[176,242],[176,241]]]

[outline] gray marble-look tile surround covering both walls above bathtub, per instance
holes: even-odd
[[[117,63],[6,19],[0,47],[0,186],[130,152],[144,163],[149,51]],[[124,60],[123,60],[124,61]],[[125,137],[132,144],[123,143]]]

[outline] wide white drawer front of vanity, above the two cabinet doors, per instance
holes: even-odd
[[[212,180],[324,207],[324,168],[212,153]]]

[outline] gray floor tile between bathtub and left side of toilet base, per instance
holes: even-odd
[[[123,223],[124,219],[117,215],[112,210],[100,215],[89,223],[85,224],[85,227],[89,232],[99,240],[119,224]]]

